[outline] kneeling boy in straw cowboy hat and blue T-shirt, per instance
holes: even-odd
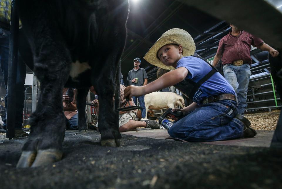
[[[235,91],[220,73],[194,55],[193,38],[183,29],[170,29],[144,56],[149,63],[172,70],[146,86],[128,86],[124,96],[141,96],[177,83],[191,83],[186,92],[193,103],[180,109],[186,114],[168,127],[171,137],[185,141],[221,141],[254,137],[256,131],[237,114]],[[175,109],[174,109],[175,110]]]

